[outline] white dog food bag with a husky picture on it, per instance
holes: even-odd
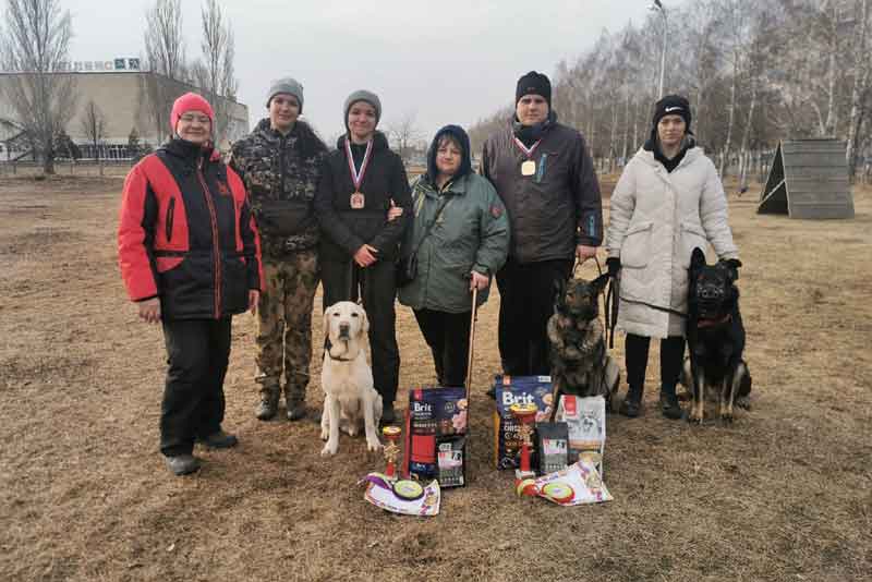
[[[590,462],[602,475],[606,445],[605,398],[562,395],[555,420],[565,422],[569,428],[569,462]]]

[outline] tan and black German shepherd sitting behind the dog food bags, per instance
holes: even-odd
[[[618,389],[620,369],[606,353],[600,320],[600,294],[607,282],[608,275],[602,275],[593,281],[571,277],[557,283],[547,326],[555,412],[561,395],[603,396],[610,404]]]

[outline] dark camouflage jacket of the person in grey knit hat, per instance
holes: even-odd
[[[326,154],[327,146],[303,121],[282,135],[263,119],[233,144],[230,167],[245,183],[264,256],[317,247],[313,201]]]

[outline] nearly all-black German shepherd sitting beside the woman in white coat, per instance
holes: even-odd
[[[744,326],[739,313],[736,287],[738,259],[705,263],[705,254],[694,248],[690,258],[687,338],[693,401],[688,420],[703,421],[705,389],[718,390],[719,416],[732,422],[737,399],[747,400],[751,374],[742,360]]]

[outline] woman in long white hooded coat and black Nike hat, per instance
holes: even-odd
[[[629,390],[620,413],[638,416],[651,338],[661,339],[661,410],[680,419],[676,384],[685,356],[688,266],[693,248],[714,247],[737,269],[727,198],[714,163],[697,147],[683,97],[655,105],[654,128],[611,194],[608,270],[620,271],[618,328],[627,334]]]

